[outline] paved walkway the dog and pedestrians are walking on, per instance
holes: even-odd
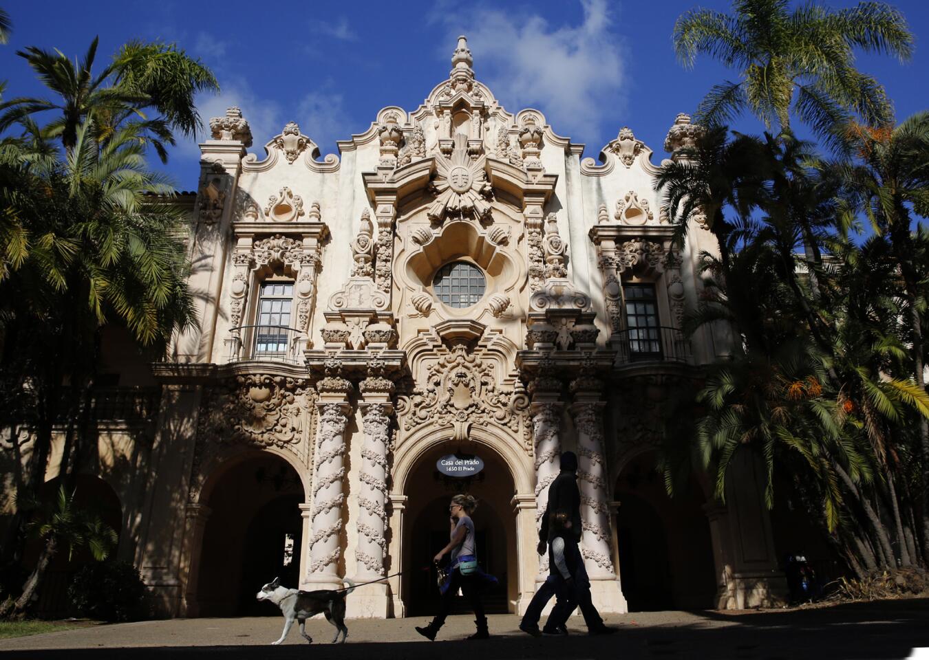
[[[296,626],[281,646],[278,617],[174,619],[100,625],[0,641],[0,660],[188,660],[189,658],[300,658],[318,660],[504,660],[508,658],[903,658],[929,647],[929,599],[852,603],[829,608],[763,612],[653,612],[610,616],[621,632],[587,637],[580,618],[569,638],[531,638],[515,615],[491,616],[489,641],[464,641],[469,616],[451,616],[429,642],[412,629],[421,619],[354,620],[345,645],[328,643],[334,628],[307,623],[310,646]],[[424,619],[425,620],[425,619]],[[387,642],[387,643],[386,643]],[[127,649],[133,649],[131,653]]]

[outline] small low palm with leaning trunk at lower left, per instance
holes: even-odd
[[[94,560],[102,562],[115,548],[119,538],[116,531],[101,521],[98,515],[75,507],[74,492],[69,493],[64,485],[59,486],[53,502],[46,502],[45,506],[38,508],[29,527],[46,543],[20,597],[15,602],[8,599],[0,605],[0,616],[3,617],[10,613],[21,616],[28,611],[42,584],[48,564],[57,552],[67,548],[70,562],[75,550],[86,548]]]

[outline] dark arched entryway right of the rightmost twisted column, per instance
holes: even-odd
[[[655,454],[630,460],[614,489],[622,592],[630,612],[712,608],[713,542],[705,498],[691,477],[668,497]]]

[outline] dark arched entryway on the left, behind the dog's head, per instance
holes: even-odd
[[[201,616],[280,615],[255,593],[274,577],[296,588],[305,501],[299,475],[264,452],[224,465],[203,489],[203,528],[194,598]],[[195,550],[196,551],[196,550]]]

